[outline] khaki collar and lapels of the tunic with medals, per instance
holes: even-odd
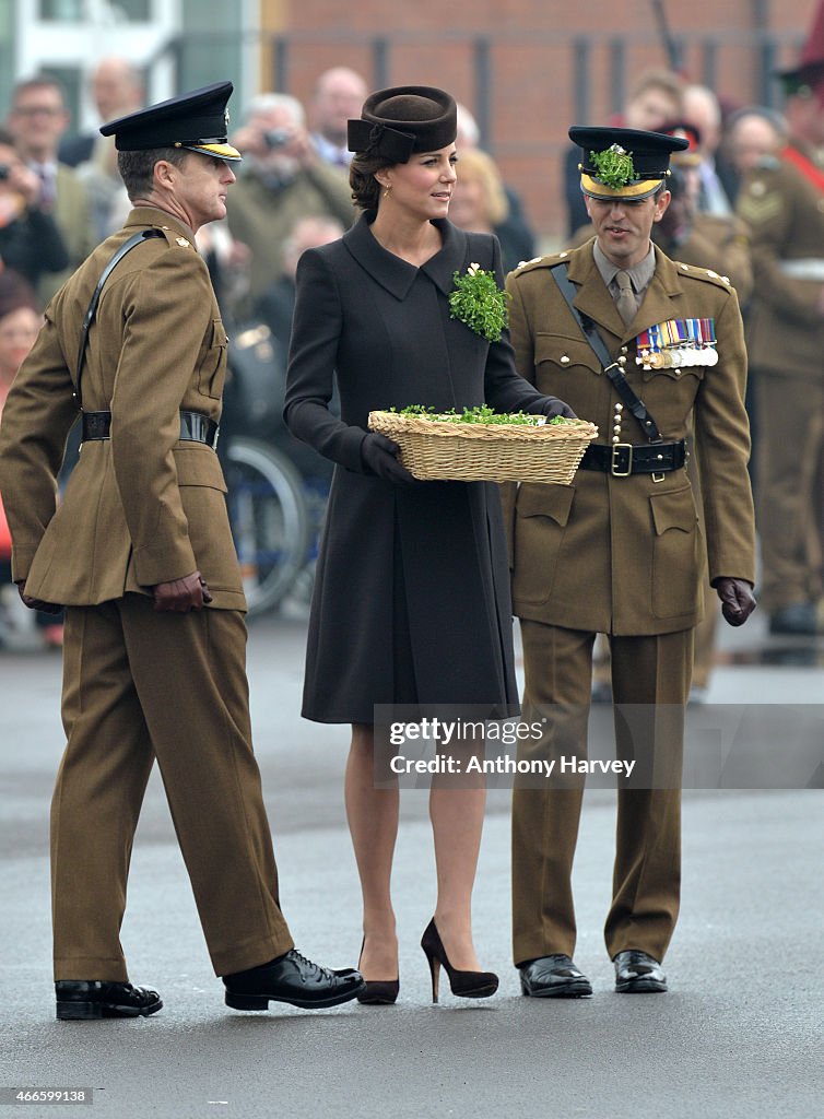
[[[644,302],[638,308],[638,313],[629,326],[625,327],[594,262],[593,242],[594,238],[569,254],[569,278],[578,285],[575,307],[582,314],[589,316],[622,342],[636,338],[656,322],[666,322],[673,318],[671,300],[683,294],[684,288],[675,263],[662,253],[657,245],[655,274],[647,288]]]

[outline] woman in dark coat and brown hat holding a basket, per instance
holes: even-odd
[[[368,413],[486,402],[499,412],[572,414],[517,375],[506,335],[490,344],[450,318],[456,271],[479,264],[503,288],[497,241],[447,220],[455,137],[455,101],[422,86],[374,93],[349,122],[350,182],[364,214],[300,260],[287,376],[289,427],[336,463],[302,713],[353,724],[346,807],[364,895],[359,998],[369,1003],[397,995],[390,877],[399,791],[375,787],[375,705],[419,717],[461,705],[469,718],[503,717],[517,711],[517,693],[497,487],[415,481],[397,445],[367,433]],[[335,379],[340,419],[328,410]],[[455,994],[478,998],[497,987],[472,947],[485,790],[468,783],[434,778],[430,794],[438,901],[422,947],[433,996],[440,963]]]

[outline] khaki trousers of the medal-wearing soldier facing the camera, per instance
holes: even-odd
[[[587,756],[594,633],[521,622],[526,723],[546,720],[540,742],[518,759]],[[681,773],[684,706],[693,630],[610,637],[616,758],[635,759],[619,778],[612,904],[605,939],[610,958],[627,948],[662,960],[675,928],[681,886]],[[620,705],[625,706],[621,711]],[[546,780],[513,794],[513,949],[516,966],[575,948],[572,863],[584,777]],[[534,784],[534,779],[533,782]],[[562,787],[558,787],[558,786]]]

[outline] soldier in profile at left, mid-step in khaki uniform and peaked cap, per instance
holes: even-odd
[[[101,129],[134,208],[49,304],[3,411],[13,579],[27,605],[66,608],[58,1018],[162,1006],[129,984],[119,937],[156,758],[226,1003],[334,1006],[363,986],[294,950],[252,752],[245,603],[214,450],[227,339],[195,247],[235,180],[231,92],[219,83]],[[82,453],[58,510],[78,412]]]

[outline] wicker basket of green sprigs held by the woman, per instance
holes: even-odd
[[[572,481],[594,424],[478,424],[371,412],[369,430],[401,448],[401,462],[422,479],[493,482]]]

